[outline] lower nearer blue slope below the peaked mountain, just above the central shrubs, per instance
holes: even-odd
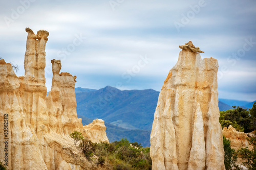
[[[89,125],[93,122],[93,119],[77,115],[78,118],[82,118],[82,125]],[[141,143],[143,147],[150,147],[150,130],[129,130],[123,129],[112,124],[105,123],[106,136],[108,136],[110,142],[115,140],[119,141],[121,138],[126,138],[130,142]]]

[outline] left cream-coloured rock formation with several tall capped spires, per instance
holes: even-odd
[[[60,60],[52,60],[52,89],[46,96],[45,47],[49,33],[26,31],[25,76],[17,77],[11,64],[0,60],[0,161],[15,170],[101,169],[82,156],[69,134],[78,131],[93,142],[108,142],[104,121],[97,119],[82,126],[76,113],[76,76],[59,74]],[[4,123],[8,123],[8,131],[4,131]],[[3,139],[8,141],[7,146]],[[6,154],[8,162],[2,157]]]

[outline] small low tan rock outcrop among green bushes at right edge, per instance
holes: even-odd
[[[248,136],[244,132],[238,132],[235,128],[229,125],[228,128],[224,127],[222,130],[223,135],[230,140],[230,147],[234,150],[248,147],[249,150],[253,149],[247,140]]]

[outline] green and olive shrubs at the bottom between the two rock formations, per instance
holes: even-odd
[[[79,141],[78,147],[89,161],[96,155],[97,164],[100,166],[108,161],[113,165],[113,169],[151,169],[150,148],[143,148],[141,143],[131,143],[127,139],[112,143],[93,143],[80,135],[79,132],[70,134],[74,141]]]

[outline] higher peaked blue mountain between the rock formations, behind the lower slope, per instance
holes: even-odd
[[[77,114],[125,129],[151,130],[159,92],[106,86],[76,94]]]

